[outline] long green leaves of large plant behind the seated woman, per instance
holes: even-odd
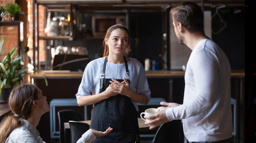
[[[4,37],[0,41],[0,53],[4,43]],[[1,102],[6,102],[9,91],[19,85],[25,75],[28,74],[27,69],[24,68],[21,56],[17,55],[18,48],[12,48],[7,55],[0,60],[0,95]],[[4,95],[4,91],[8,95]],[[3,93],[2,93],[3,92]],[[4,97],[2,97],[4,96]],[[5,97],[6,96],[6,97]]]

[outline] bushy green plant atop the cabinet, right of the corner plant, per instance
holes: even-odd
[[[21,7],[17,3],[13,2],[8,2],[6,4],[6,11],[10,13],[12,21],[14,21],[17,14],[24,14],[24,12],[21,10]]]

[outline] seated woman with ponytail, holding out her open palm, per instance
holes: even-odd
[[[0,124],[1,143],[45,143],[36,130],[41,116],[50,111],[46,97],[42,91],[32,84],[22,84],[12,89],[9,97],[11,114],[5,117]],[[95,136],[106,135],[113,129],[109,128],[105,132],[88,130],[80,143],[88,142],[91,138],[93,142]],[[89,133],[88,133],[89,132]],[[94,134],[92,134],[92,133]]]

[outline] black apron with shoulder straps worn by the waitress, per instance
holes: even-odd
[[[126,73],[128,76],[127,61],[124,57]],[[111,79],[104,78],[107,64],[105,58],[101,79],[100,93],[105,91]],[[116,79],[122,82],[123,79]],[[128,80],[130,83],[130,80]],[[106,131],[108,127],[113,130],[104,136],[96,137],[94,143],[135,143],[139,142],[138,113],[131,99],[118,94],[106,100],[96,103],[92,109],[92,119],[90,128],[98,131]]]

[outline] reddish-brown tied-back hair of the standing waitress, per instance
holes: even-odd
[[[126,28],[122,24],[116,24],[116,25],[113,25],[113,26],[109,27],[107,32],[106,32],[105,38],[103,40],[103,46],[104,46],[103,57],[108,56],[108,54],[109,54],[108,45],[106,44],[105,39],[109,39],[111,32],[113,30],[116,30],[116,29],[122,29],[122,30],[125,30],[127,32],[127,34],[128,34],[128,45],[127,45],[127,49],[125,51],[125,55],[128,55],[128,53],[130,51],[130,32],[129,32],[128,28]]]

